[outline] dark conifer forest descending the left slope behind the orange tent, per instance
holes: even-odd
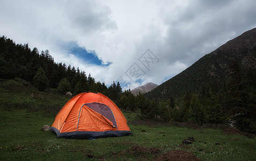
[[[122,92],[121,86],[113,82],[109,87],[96,81],[91,74],[71,67],[65,63],[56,63],[49,50],[40,53],[36,47],[31,50],[28,44],[17,44],[5,36],[0,38],[0,78],[19,77],[32,83],[39,91],[47,87],[65,94],[71,91],[78,94],[85,91],[97,91],[116,100]]]

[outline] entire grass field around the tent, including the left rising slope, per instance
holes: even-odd
[[[58,101],[52,103],[53,93],[25,88],[14,80],[1,81],[0,160],[154,160],[173,150],[194,153],[202,160],[256,160],[255,138],[226,135],[218,129],[130,125],[133,136],[94,140],[56,138],[54,133],[40,129],[54,119],[49,109],[63,106],[68,99],[55,96]],[[21,91],[14,93],[15,90]],[[124,114],[128,119],[137,119],[136,113]],[[195,142],[181,143],[191,136]]]

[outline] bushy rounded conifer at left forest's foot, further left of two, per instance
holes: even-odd
[[[44,91],[46,87],[49,84],[49,80],[45,75],[45,72],[43,71],[42,68],[39,68],[38,71],[36,72],[34,78],[33,78],[33,83],[34,86],[39,90],[39,91]]]

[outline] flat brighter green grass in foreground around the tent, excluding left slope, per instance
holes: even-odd
[[[43,125],[49,125],[53,120],[40,112],[31,113],[25,109],[1,110],[0,118],[0,160],[151,160],[172,150],[189,151],[202,160],[256,159],[255,138],[237,134],[224,135],[221,130],[216,129],[130,125],[134,136],[72,140],[56,138],[50,131],[40,131]],[[195,142],[182,145],[182,140],[189,136],[193,136]],[[220,145],[215,145],[217,142]],[[159,153],[134,156],[127,149],[135,145],[155,147],[159,149]]]

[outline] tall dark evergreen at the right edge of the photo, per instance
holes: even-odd
[[[230,78],[229,94],[234,125],[241,131],[255,133],[255,95],[248,90],[248,79],[235,61],[230,66]]]

